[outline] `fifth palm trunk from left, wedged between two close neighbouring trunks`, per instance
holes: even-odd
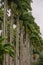
[[[24,31],[25,32],[25,31]],[[27,64],[27,50],[26,50],[26,35],[24,34],[24,40],[23,40],[23,65]]]

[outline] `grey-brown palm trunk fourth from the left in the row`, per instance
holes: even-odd
[[[23,64],[23,52],[24,52],[24,41],[23,41],[23,39],[24,39],[24,26],[22,25],[22,21],[21,21],[21,24],[20,24],[20,45],[19,45],[19,55],[20,55],[20,65],[24,65]]]

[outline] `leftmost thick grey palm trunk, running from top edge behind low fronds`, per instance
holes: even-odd
[[[5,37],[6,36],[6,11],[7,11],[7,9],[6,9],[6,1],[4,0],[4,22],[3,22],[3,29],[2,29],[2,35],[3,35],[3,37]],[[4,43],[5,43],[5,40],[3,41]],[[4,55],[4,61],[3,61],[3,65],[5,65],[5,55]]]

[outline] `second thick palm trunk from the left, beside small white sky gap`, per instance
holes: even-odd
[[[13,12],[11,11],[11,22],[10,22],[10,44],[13,43],[13,22],[14,22],[14,18],[13,18]],[[10,57],[10,65],[14,65],[14,59],[12,57]]]

